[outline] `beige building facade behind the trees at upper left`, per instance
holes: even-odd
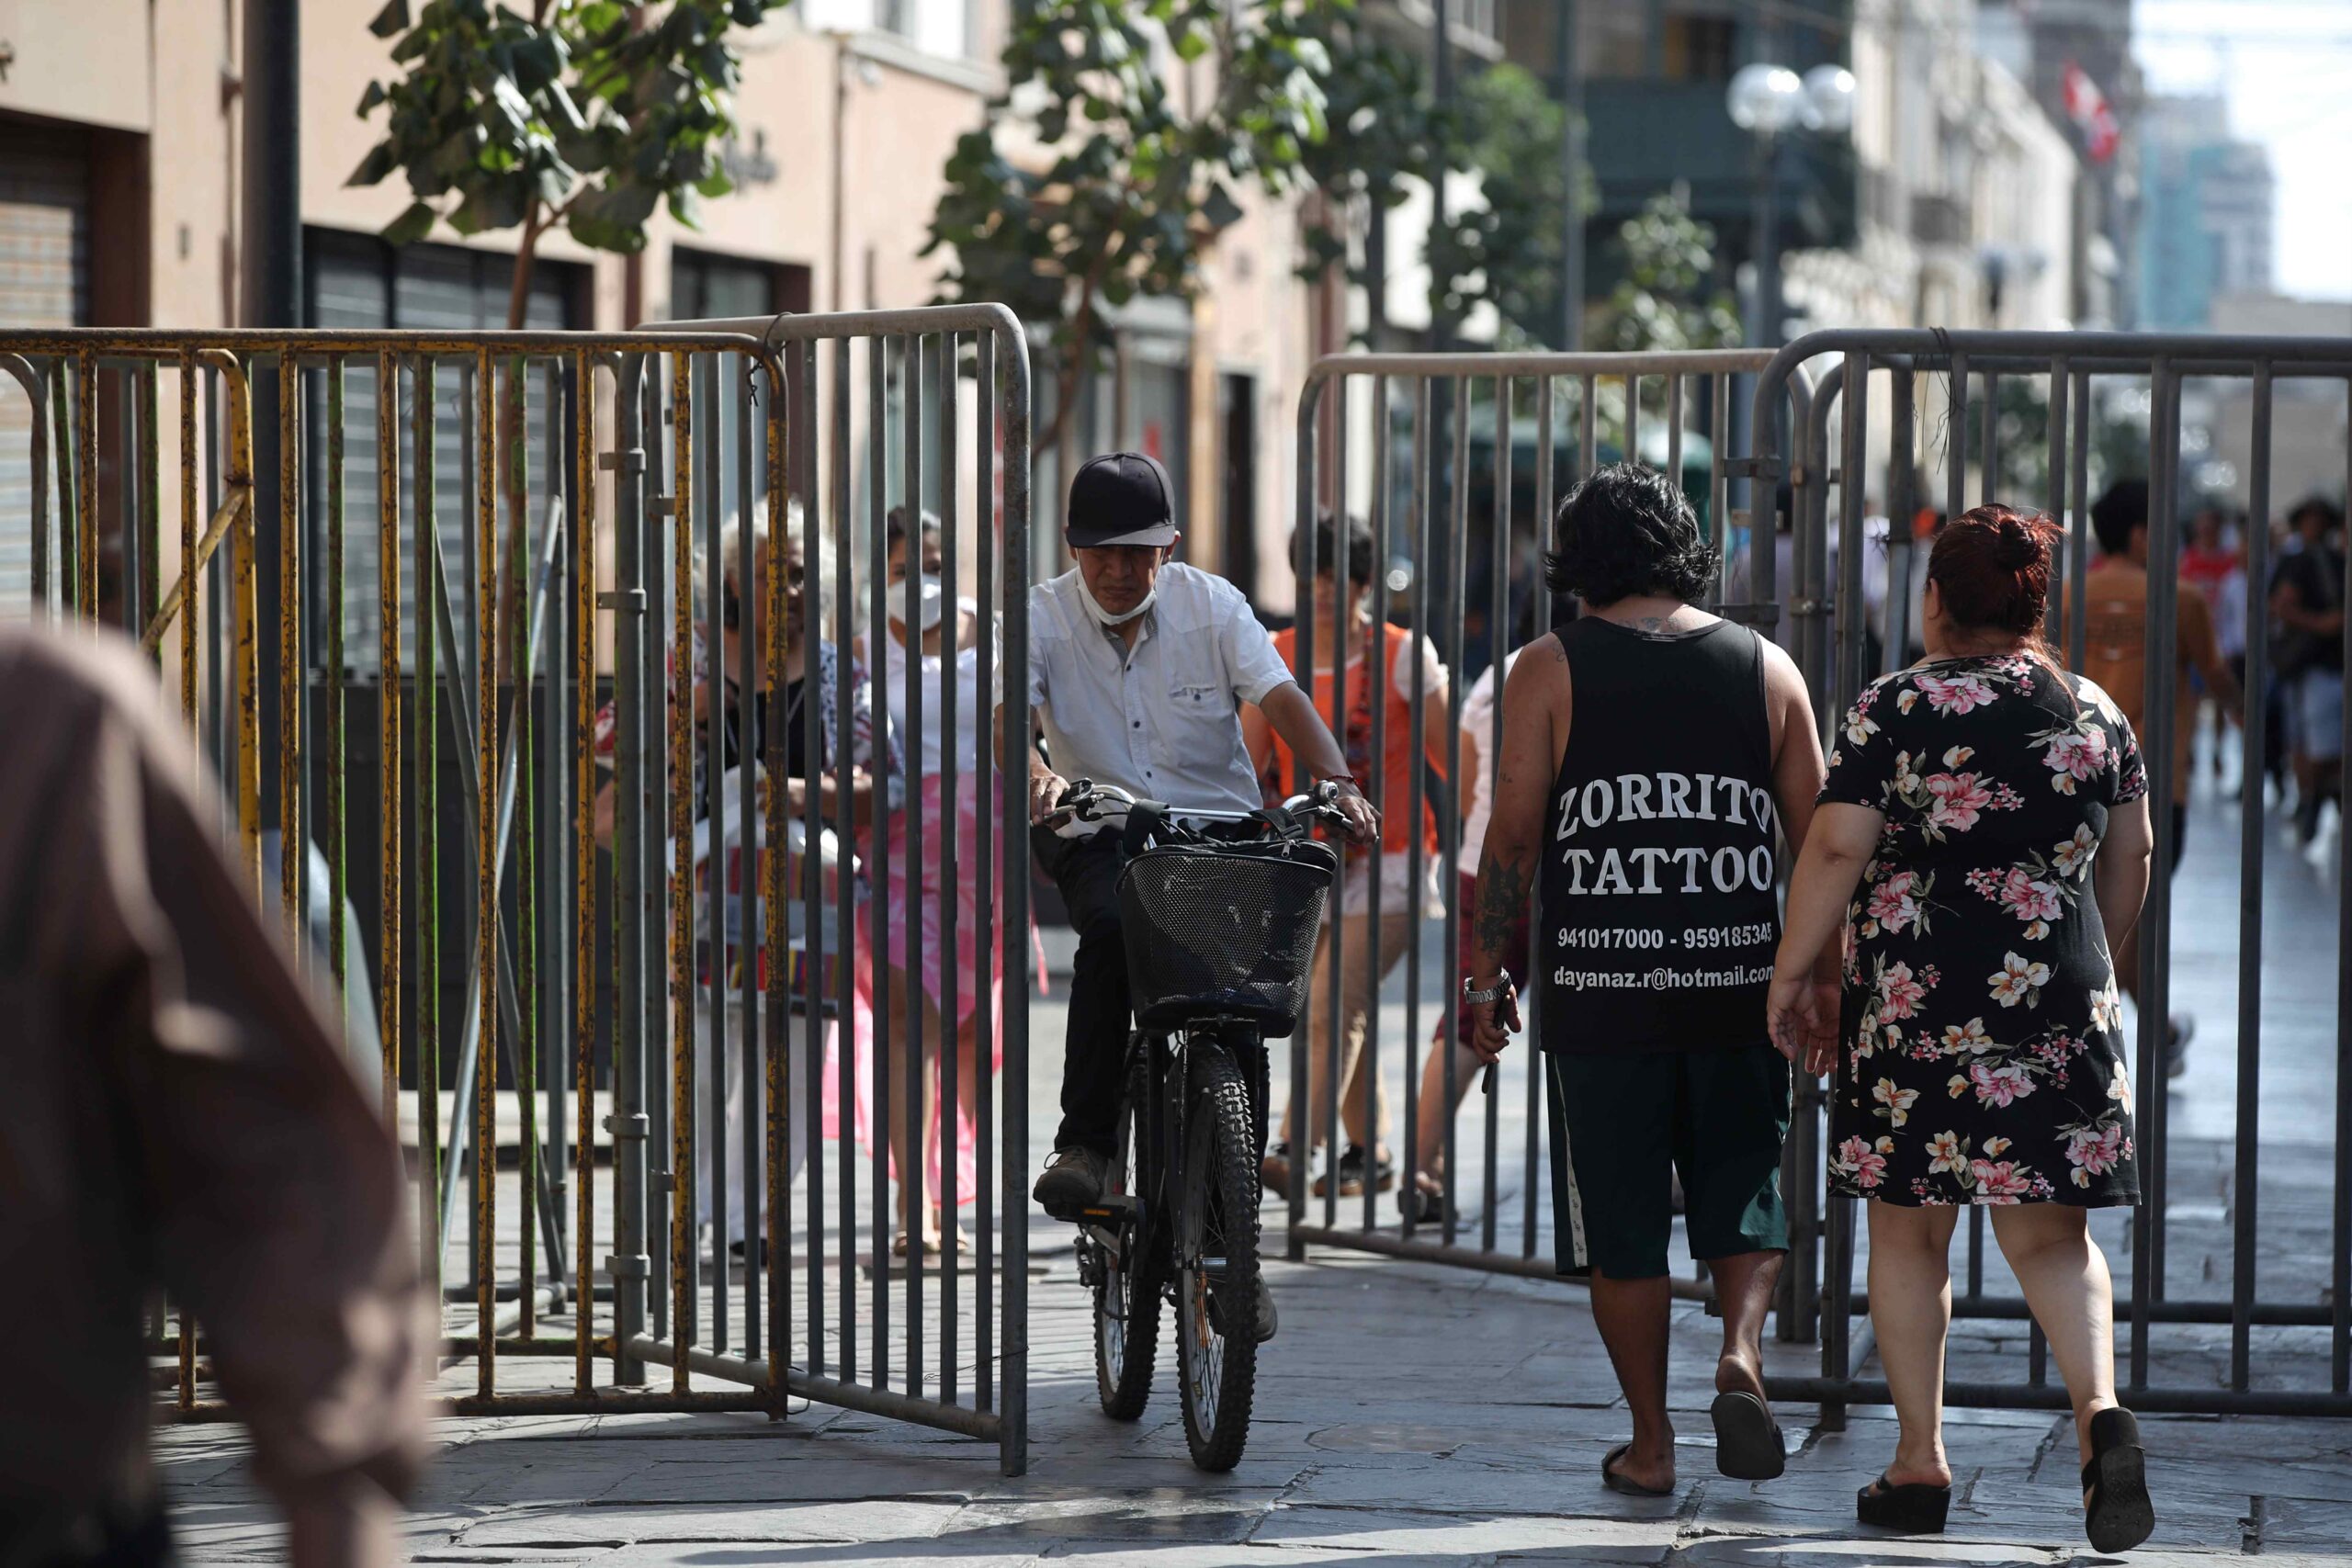
[[[513,233],[447,228],[395,252],[376,240],[409,200],[395,174],[348,186],[381,134],[355,113],[390,73],[367,28],[379,0],[301,0],[303,320],[334,327],[503,327]],[[635,322],[929,303],[922,256],[941,169],[1004,89],[1009,0],[800,0],[739,35],[736,190],[687,228],[656,212],[640,256],[550,233],[527,322]],[[0,0],[0,327],[228,327],[242,289],[240,0]],[[1294,277],[1298,202],[1251,193],[1207,261],[1195,306],[1122,315],[1112,367],[1077,400],[1061,451],[1037,454],[1040,524],[1058,562],[1054,496],[1080,449],[1143,447],[1176,473],[1188,552],[1287,609],[1291,430],[1327,348]],[[1049,355],[1037,428],[1054,416]],[[969,388],[967,388],[969,400]],[[162,386],[165,463],[176,407]],[[967,402],[969,409],[969,402]],[[26,494],[31,409],[0,378],[0,503]],[[863,433],[861,433],[863,440]],[[169,468],[167,468],[169,473]],[[176,496],[165,484],[165,536]],[[115,475],[101,473],[115,494]],[[969,512],[967,512],[969,515]],[[21,555],[21,548],[19,548]],[[0,545],[0,574],[9,550]],[[21,564],[19,564],[21,569]]]

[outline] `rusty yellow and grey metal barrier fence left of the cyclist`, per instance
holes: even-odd
[[[976,393],[960,397],[967,367]],[[1018,1472],[1025,1009],[1018,994],[1002,1023],[990,1006],[967,1009],[983,1065],[962,1065],[962,1079],[953,1048],[931,1051],[934,1072],[894,1067],[891,1030],[906,1053],[927,999],[884,976],[931,961],[943,990],[934,999],[957,1013],[957,910],[938,896],[955,879],[924,877],[924,835],[943,839],[934,858],[971,872],[974,886],[1025,844],[1025,802],[1014,792],[1002,811],[988,804],[993,748],[978,745],[976,766],[964,764],[981,802],[967,853],[957,748],[946,745],[948,809],[927,827],[936,785],[906,771],[931,733],[922,661],[901,661],[906,722],[877,719],[868,745],[854,715],[889,701],[870,668],[882,661],[851,649],[861,604],[870,646],[889,637],[882,524],[903,501],[943,517],[948,599],[953,562],[971,550],[981,602],[1004,602],[1002,632],[995,616],[974,618],[967,675],[978,686],[931,677],[946,733],[957,733],[957,691],[993,689],[997,646],[1004,663],[1025,663],[1018,322],[1002,308],[943,308],[635,334],[0,331],[0,369],[31,402],[26,484],[7,484],[14,465],[0,463],[0,592],[21,595],[7,609],[103,614],[176,665],[256,891],[275,893],[289,943],[343,999],[353,1044],[381,1041],[383,1103],[414,1128],[419,1237],[447,1300],[445,1354],[477,1368],[475,1389],[449,1408],[781,1418],[788,1394],[807,1394],[995,1441]],[[254,482],[263,376],[278,393],[273,529]],[[454,407],[440,397],[452,383]],[[176,442],[165,440],[162,390],[176,393]],[[346,451],[355,421],[372,442]],[[162,590],[167,447],[179,468],[179,576]],[[374,503],[372,541],[348,538],[353,494]],[[854,494],[868,522],[863,592]],[[830,541],[807,529],[807,590],[797,571],[769,571],[755,538],[764,522],[781,557],[802,510],[833,520]],[[259,630],[263,550],[285,583],[275,637]],[[830,639],[814,590],[828,581]],[[920,625],[913,574],[901,609]],[[374,635],[353,637],[355,621]],[[731,724],[722,651],[734,658]],[[955,618],[946,663],[957,665]],[[348,722],[367,708],[374,736]],[[1002,722],[1018,745],[1025,682],[1007,693]],[[976,703],[967,729],[988,736]],[[452,804],[463,842],[445,842]],[[278,853],[263,886],[273,837],[294,849]],[[769,844],[783,851],[764,853]],[[466,877],[470,896],[445,910],[445,889]],[[1025,929],[1025,877],[1004,877],[1011,929]],[[372,917],[365,929],[358,907]],[[873,985],[854,926],[870,933]],[[306,940],[310,929],[325,933]],[[1018,976],[1016,947],[1000,966],[995,940],[967,945],[976,994]],[[372,987],[376,1009],[365,1006]],[[913,994],[894,1016],[901,990]],[[445,992],[463,994],[456,1020]],[[1002,1114],[985,1067],[997,1046]],[[969,1131],[955,1114],[929,1131],[934,1084],[971,1110]],[[520,1124],[513,1138],[501,1135],[508,1117]],[[898,1171],[922,1164],[927,1135],[943,1145],[950,1241],[936,1253],[917,1244],[906,1260],[891,1255],[887,1131],[917,1152]],[[828,1135],[837,1150],[821,1152]],[[868,1180],[856,1180],[861,1140]],[[515,1154],[510,1178],[501,1143]],[[804,1171],[795,1150],[807,1152]],[[976,1171],[969,1267],[953,1239],[964,1154]],[[828,1164],[840,1173],[833,1204]],[[473,1197],[466,1265],[445,1288],[461,1185]],[[501,1187],[520,1199],[508,1229]],[[731,1232],[743,1234],[734,1260]],[[906,1302],[896,1324],[894,1291]],[[543,1333],[564,1316],[569,1333]],[[934,1319],[936,1349],[924,1342]],[[200,1326],[169,1333],[158,1319],[151,1349],[176,1359],[179,1418],[223,1413],[200,1399]],[[524,1371],[501,1387],[515,1359]],[[569,1378],[553,1359],[572,1361]],[[670,1368],[668,1389],[644,1387],[649,1363]]]

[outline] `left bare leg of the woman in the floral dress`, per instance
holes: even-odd
[[[1896,1401],[1893,1486],[1950,1486],[1943,1458],[1943,1342],[1952,1328],[1957,1208],[1870,1201],[1870,1326]]]

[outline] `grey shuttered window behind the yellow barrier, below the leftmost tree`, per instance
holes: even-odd
[[[454,244],[393,247],[374,235],[329,228],[303,230],[303,317],[310,327],[355,327],[367,331],[437,329],[487,331],[506,327],[515,259],[499,252],[475,252]],[[588,268],[567,261],[532,266],[524,327],[569,329],[586,324]],[[442,567],[449,578],[449,614],[459,649],[473,649],[480,588],[475,585],[475,440],[477,407],[475,362],[470,357],[435,364],[433,418],[433,522],[440,536]],[[306,371],[303,409],[308,451],[306,510],[313,527],[327,517],[327,378]],[[400,378],[400,510],[414,517],[416,454],[409,449],[412,381]],[[557,393],[562,397],[562,393]],[[560,402],[555,404],[560,409]],[[543,517],[548,496],[562,489],[562,416],[550,425],[548,371],[532,367],[524,381],[524,482],[532,517]],[[379,550],[376,517],[376,374],[374,357],[358,355],[343,369],[343,517],[350,529],[343,545],[343,649],[353,675],[379,668]],[[503,510],[501,510],[503,515]],[[536,531],[536,529],[534,529]],[[308,548],[313,576],[308,604],[322,604],[329,592],[322,550]],[[416,661],[416,552],[400,552],[402,663]],[[325,642],[313,628],[313,649]]]

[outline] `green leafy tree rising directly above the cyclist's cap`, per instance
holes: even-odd
[[[1324,19],[1352,0],[1028,0],[1004,80],[946,167],[924,254],[941,296],[1054,322],[1061,395],[1103,353],[1103,313],[1188,299],[1242,193],[1301,188],[1324,136]]]

